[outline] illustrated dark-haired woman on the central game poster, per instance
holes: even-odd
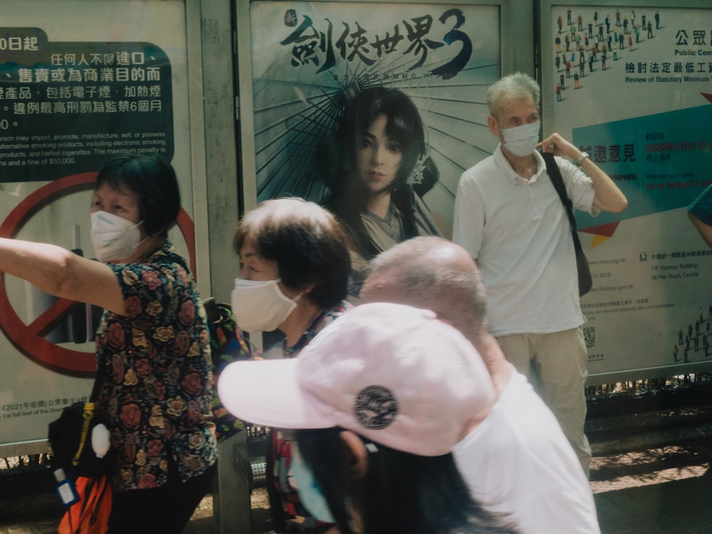
[[[330,194],[326,207],[351,238],[352,284],[357,296],[367,262],[414,236],[442,235],[422,196],[438,180],[427,154],[423,123],[402,91],[362,90],[346,105],[318,165]]]

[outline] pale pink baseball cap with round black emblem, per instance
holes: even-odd
[[[340,426],[421,456],[448,453],[494,401],[487,368],[459,331],[392,303],[350,310],[296,358],[231,363],[218,393],[246,422]]]

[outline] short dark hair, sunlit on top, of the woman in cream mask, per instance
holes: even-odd
[[[313,286],[305,296],[319,308],[346,298],[351,261],[345,231],[323,207],[300,198],[264,201],[237,226],[233,246],[238,254],[247,238],[260,256],[277,263],[288,288]]]

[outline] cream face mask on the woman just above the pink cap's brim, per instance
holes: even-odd
[[[301,295],[289,298],[279,288],[279,281],[279,278],[266,282],[235,279],[231,305],[238,328],[271,332],[289,317]]]

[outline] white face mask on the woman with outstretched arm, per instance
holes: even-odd
[[[91,242],[100,261],[122,260],[143,243],[139,224],[107,211],[91,214]]]

